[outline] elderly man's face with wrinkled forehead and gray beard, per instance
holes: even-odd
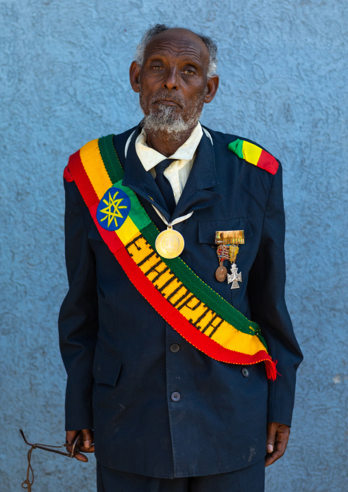
[[[186,29],[169,29],[145,49],[139,74],[140,106],[145,116],[176,123],[197,124],[207,88],[209,52],[205,43]],[[145,118],[146,121],[146,118]],[[177,130],[184,126],[177,125]]]

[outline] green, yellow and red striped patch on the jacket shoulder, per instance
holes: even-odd
[[[240,159],[245,159],[250,164],[260,167],[271,174],[275,174],[278,170],[279,163],[277,159],[254,143],[237,138],[237,140],[228,145],[228,148],[236,153]]]

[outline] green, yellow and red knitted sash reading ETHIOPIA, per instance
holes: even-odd
[[[74,153],[64,170],[75,181],[92,219],[129,280],[186,341],[208,356],[232,364],[265,362],[275,380],[275,362],[260,328],[205,284],[181,258],[158,255],[159,231],[136,194],[123,186],[123,169],[112,135]]]

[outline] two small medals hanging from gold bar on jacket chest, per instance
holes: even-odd
[[[242,273],[237,273],[236,257],[238,255],[238,244],[244,244],[244,231],[216,231],[215,244],[219,245],[216,254],[219,258],[219,267],[215,271],[216,280],[232,283],[231,288],[239,288],[238,282],[242,282]],[[227,268],[224,267],[224,260],[232,263],[231,274],[227,274]]]

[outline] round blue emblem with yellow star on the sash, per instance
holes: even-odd
[[[112,186],[105,193],[97,208],[97,221],[108,231],[118,230],[130,211],[130,198],[121,188]]]

